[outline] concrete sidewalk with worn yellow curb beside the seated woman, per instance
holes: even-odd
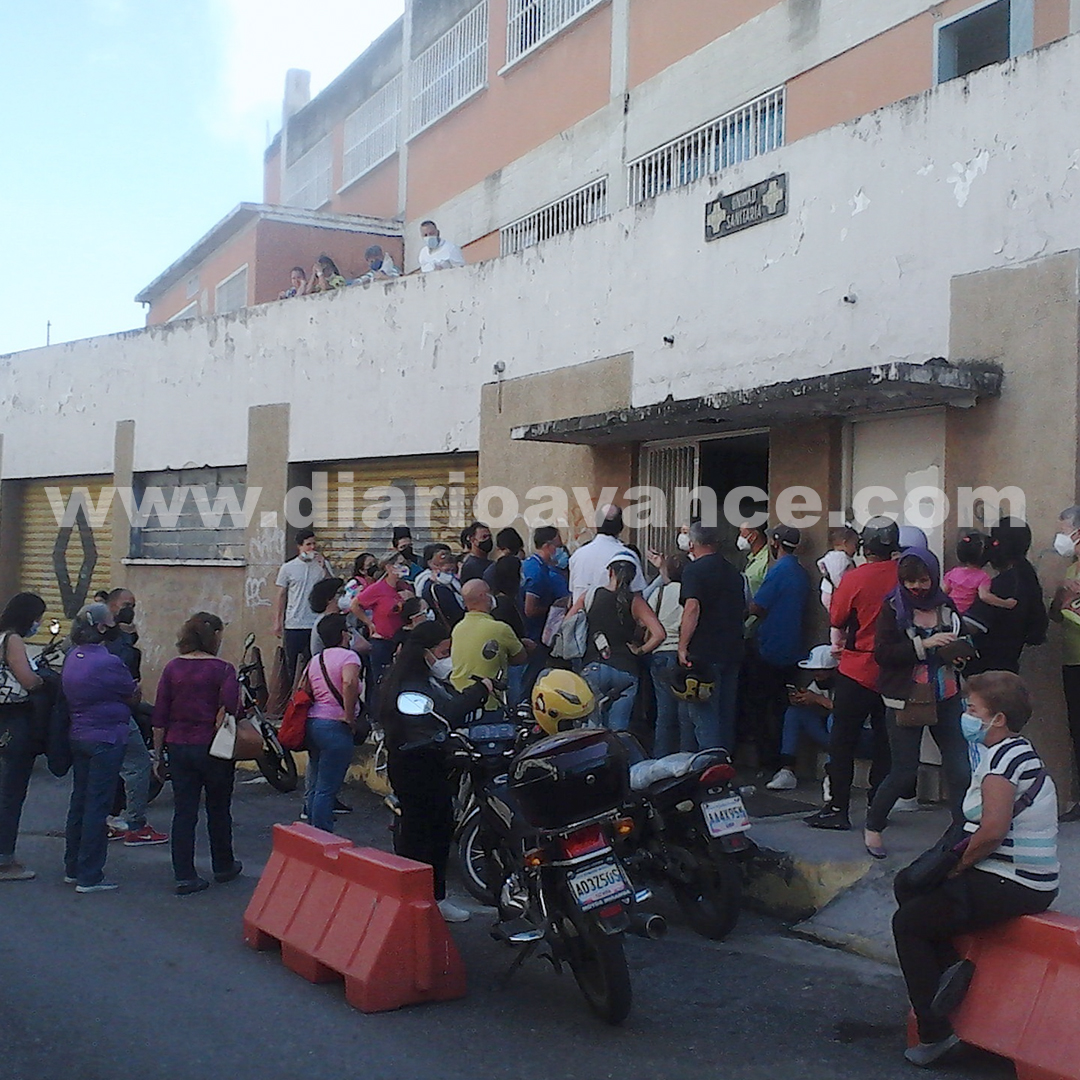
[[[942,836],[948,813],[940,807],[893,813],[885,833],[889,858],[881,862],[863,848],[860,808],[850,833],[810,828],[802,816],[754,821],[750,835],[761,852],[747,867],[747,906],[779,916],[807,937],[894,964],[892,879]],[[1058,853],[1062,890],[1053,909],[1080,917],[1080,823],[1061,826]]]

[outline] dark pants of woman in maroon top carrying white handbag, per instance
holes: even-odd
[[[210,746],[170,743],[168,774],[173,781],[173,874],[193,881],[199,802],[206,793],[206,833],[215,874],[232,869],[232,783],[235,766],[210,756]]]

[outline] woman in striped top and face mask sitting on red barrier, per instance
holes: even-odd
[[[974,973],[953,946],[959,934],[1047,910],[1057,895],[1057,795],[1035,747],[1021,735],[1031,716],[1027,687],[1012,672],[968,680],[964,738],[977,754],[963,799],[968,841],[948,879],[916,895],[897,879],[896,955],[915,1009],[919,1043],[906,1051],[928,1067],[960,1040],[949,1015]]]

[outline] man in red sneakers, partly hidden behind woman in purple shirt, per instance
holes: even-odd
[[[112,615],[114,625],[103,634],[102,644],[114,657],[123,661],[131,677],[143,678],[143,653],[136,647],[138,632],[135,630],[135,594],[129,589],[113,589],[106,599],[106,607]],[[109,818],[109,839],[123,840],[126,848],[152,847],[167,843],[168,837],[157,832],[146,820],[146,808],[150,801],[150,774],[153,764],[147,750],[152,706],[139,702],[132,706],[129,721],[127,746],[123,765],[120,767],[120,784]]]

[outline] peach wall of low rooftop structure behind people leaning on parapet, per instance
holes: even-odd
[[[389,252],[397,268],[402,265],[402,242],[393,237],[376,237],[367,232],[337,232],[284,221],[260,221],[256,248],[255,291],[253,303],[276,300],[288,288],[288,272],[301,266],[311,273],[311,266],[326,254],[346,278],[359,278],[367,270],[364,252],[372,244]]]

